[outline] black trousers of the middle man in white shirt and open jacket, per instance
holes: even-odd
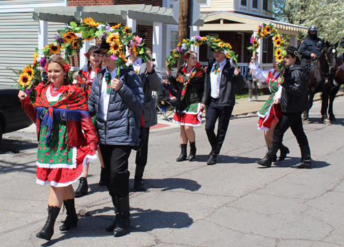
[[[219,107],[218,100],[211,99],[211,104],[206,109],[206,136],[208,136],[211,147],[217,147],[217,145],[224,143],[233,107]],[[214,130],[217,118],[219,119],[219,124],[217,126],[217,135],[215,135]]]

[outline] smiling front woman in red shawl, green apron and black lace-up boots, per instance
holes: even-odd
[[[81,87],[69,85],[69,69],[63,58],[51,58],[46,66],[49,80],[36,87],[36,103],[32,105],[22,91],[18,95],[25,113],[36,122],[36,183],[50,185],[47,222],[36,234],[46,240],[54,234],[54,223],[63,204],[67,218],[60,230],[69,230],[78,223],[72,183],[83,175],[87,162],[97,158],[98,138],[87,112],[87,97]]]

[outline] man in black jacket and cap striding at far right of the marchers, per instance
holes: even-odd
[[[298,50],[296,47],[288,46],[286,49],[286,72],[283,74],[283,80],[280,85],[283,87],[281,93],[281,111],[283,116],[276,125],[272,145],[262,160],[257,164],[264,167],[270,167],[272,158],[277,151],[281,149],[283,135],[289,127],[297,138],[301,149],[301,162],[295,164],[292,168],[311,168],[310,146],[308,145],[307,136],[303,131],[301,115],[303,111],[308,110],[308,83],[306,82],[306,68],[299,64]],[[276,100],[276,103],[278,99]],[[289,150],[281,149],[281,157],[286,157]]]

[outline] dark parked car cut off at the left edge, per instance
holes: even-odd
[[[0,85],[0,142],[3,133],[17,131],[32,125],[32,120],[21,108],[19,89]]]

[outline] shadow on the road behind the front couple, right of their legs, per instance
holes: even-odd
[[[186,191],[198,191],[201,185],[194,180],[187,180],[184,178],[163,178],[163,179],[144,179],[143,188],[159,189],[162,191],[171,191],[173,189],[185,189]],[[130,187],[133,185],[133,179],[130,180]]]

